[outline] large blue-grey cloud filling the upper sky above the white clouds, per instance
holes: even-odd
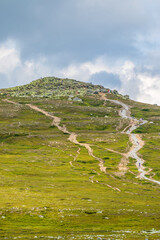
[[[132,41],[144,25],[150,25],[149,2],[2,0],[1,39],[19,41],[24,59],[62,52],[70,62],[104,53],[135,58],[138,51]],[[156,4],[160,5],[152,1]]]

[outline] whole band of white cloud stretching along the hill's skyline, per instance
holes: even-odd
[[[0,73],[5,76],[6,87],[23,85],[44,76],[66,77],[87,82],[92,75],[106,72],[119,76],[121,87],[118,91],[122,94],[129,94],[132,99],[138,101],[160,104],[160,75],[152,74],[154,69],[152,64],[142,70],[143,68],[140,69],[133,61],[119,59],[114,62],[106,56],[100,56],[93,61],[72,63],[64,68],[56,65],[53,68],[52,65],[47,57],[23,61],[20,50],[13,40],[0,45]]]

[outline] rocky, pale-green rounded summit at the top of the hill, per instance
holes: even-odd
[[[99,92],[119,95],[118,91],[112,91],[101,85],[93,85],[92,83],[57,77],[40,78],[23,86],[0,90],[1,95],[9,95],[12,97],[47,98],[82,97],[84,95],[98,94]]]

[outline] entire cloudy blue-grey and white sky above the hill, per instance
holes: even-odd
[[[0,88],[56,76],[160,105],[159,0],[0,0]]]

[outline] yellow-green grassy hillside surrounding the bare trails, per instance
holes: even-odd
[[[43,89],[47,81],[37,83]],[[81,87],[74,91],[80,91],[76,96],[82,101],[68,100],[65,89],[61,100],[54,94],[31,98],[33,86],[42,92],[36,82],[20,87],[28,97],[16,97],[17,88],[12,89],[7,98],[19,105],[3,101],[10,89],[3,90],[0,99],[0,239],[159,239],[152,229],[160,230],[160,186],[136,178],[134,159],[126,174],[119,174],[120,153],[131,146],[121,133],[128,120],[118,116],[120,106],[104,104],[98,94],[80,95]],[[144,165],[160,180],[160,108],[124,102],[136,118],[152,122],[136,131],[146,143],[140,151]],[[105,161],[106,174],[84,147],[71,143],[68,134],[52,126],[52,119],[26,103],[60,117],[61,126],[77,133],[78,141],[89,143],[94,155]]]

